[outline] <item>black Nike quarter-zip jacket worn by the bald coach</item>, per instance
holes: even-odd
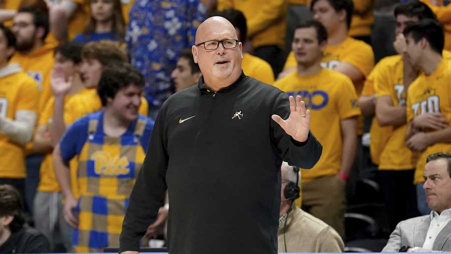
[[[288,118],[288,95],[244,73],[217,92],[201,77],[169,97],[130,195],[120,251],[138,250],[167,188],[169,253],[277,253],[282,160],[311,168],[322,146],[311,133],[292,139],[272,114]]]

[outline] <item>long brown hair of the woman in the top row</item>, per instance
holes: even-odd
[[[122,4],[121,0],[113,0],[113,16],[111,17],[113,20],[113,25],[111,27],[111,31],[116,34],[116,39],[119,41],[124,41],[125,36],[125,21],[124,16],[122,15]],[[91,32],[96,31],[96,20],[94,17],[89,15],[89,19],[87,24],[85,25],[84,34],[89,35]]]

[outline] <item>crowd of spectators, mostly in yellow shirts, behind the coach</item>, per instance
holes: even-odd
[[[343,251],[363,178],[390,232],[431,214],[426,160],[451,152],[447,3],[0,0],[0,250],[118,247],[153,119],[202,74],[191,46],[208,16],[235,27],[246,75],[302,97],[323,145],[310,170],[282,165],[279,251]],[[168,202],[143,246],[164,240]],[[323,244],[297,244],[311,235]]]

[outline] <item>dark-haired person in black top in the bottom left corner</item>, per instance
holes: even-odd
[[[12,185],[0,185],[0,253],[49,252],[47,238],[25,224],[21,200]]]

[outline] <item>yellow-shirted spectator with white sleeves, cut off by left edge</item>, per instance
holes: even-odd
[[[16,37],[0,24],[0,184],[14,185],[24,194],[25,144],[33,137],[38,86],[17,63],[9,60]]]

